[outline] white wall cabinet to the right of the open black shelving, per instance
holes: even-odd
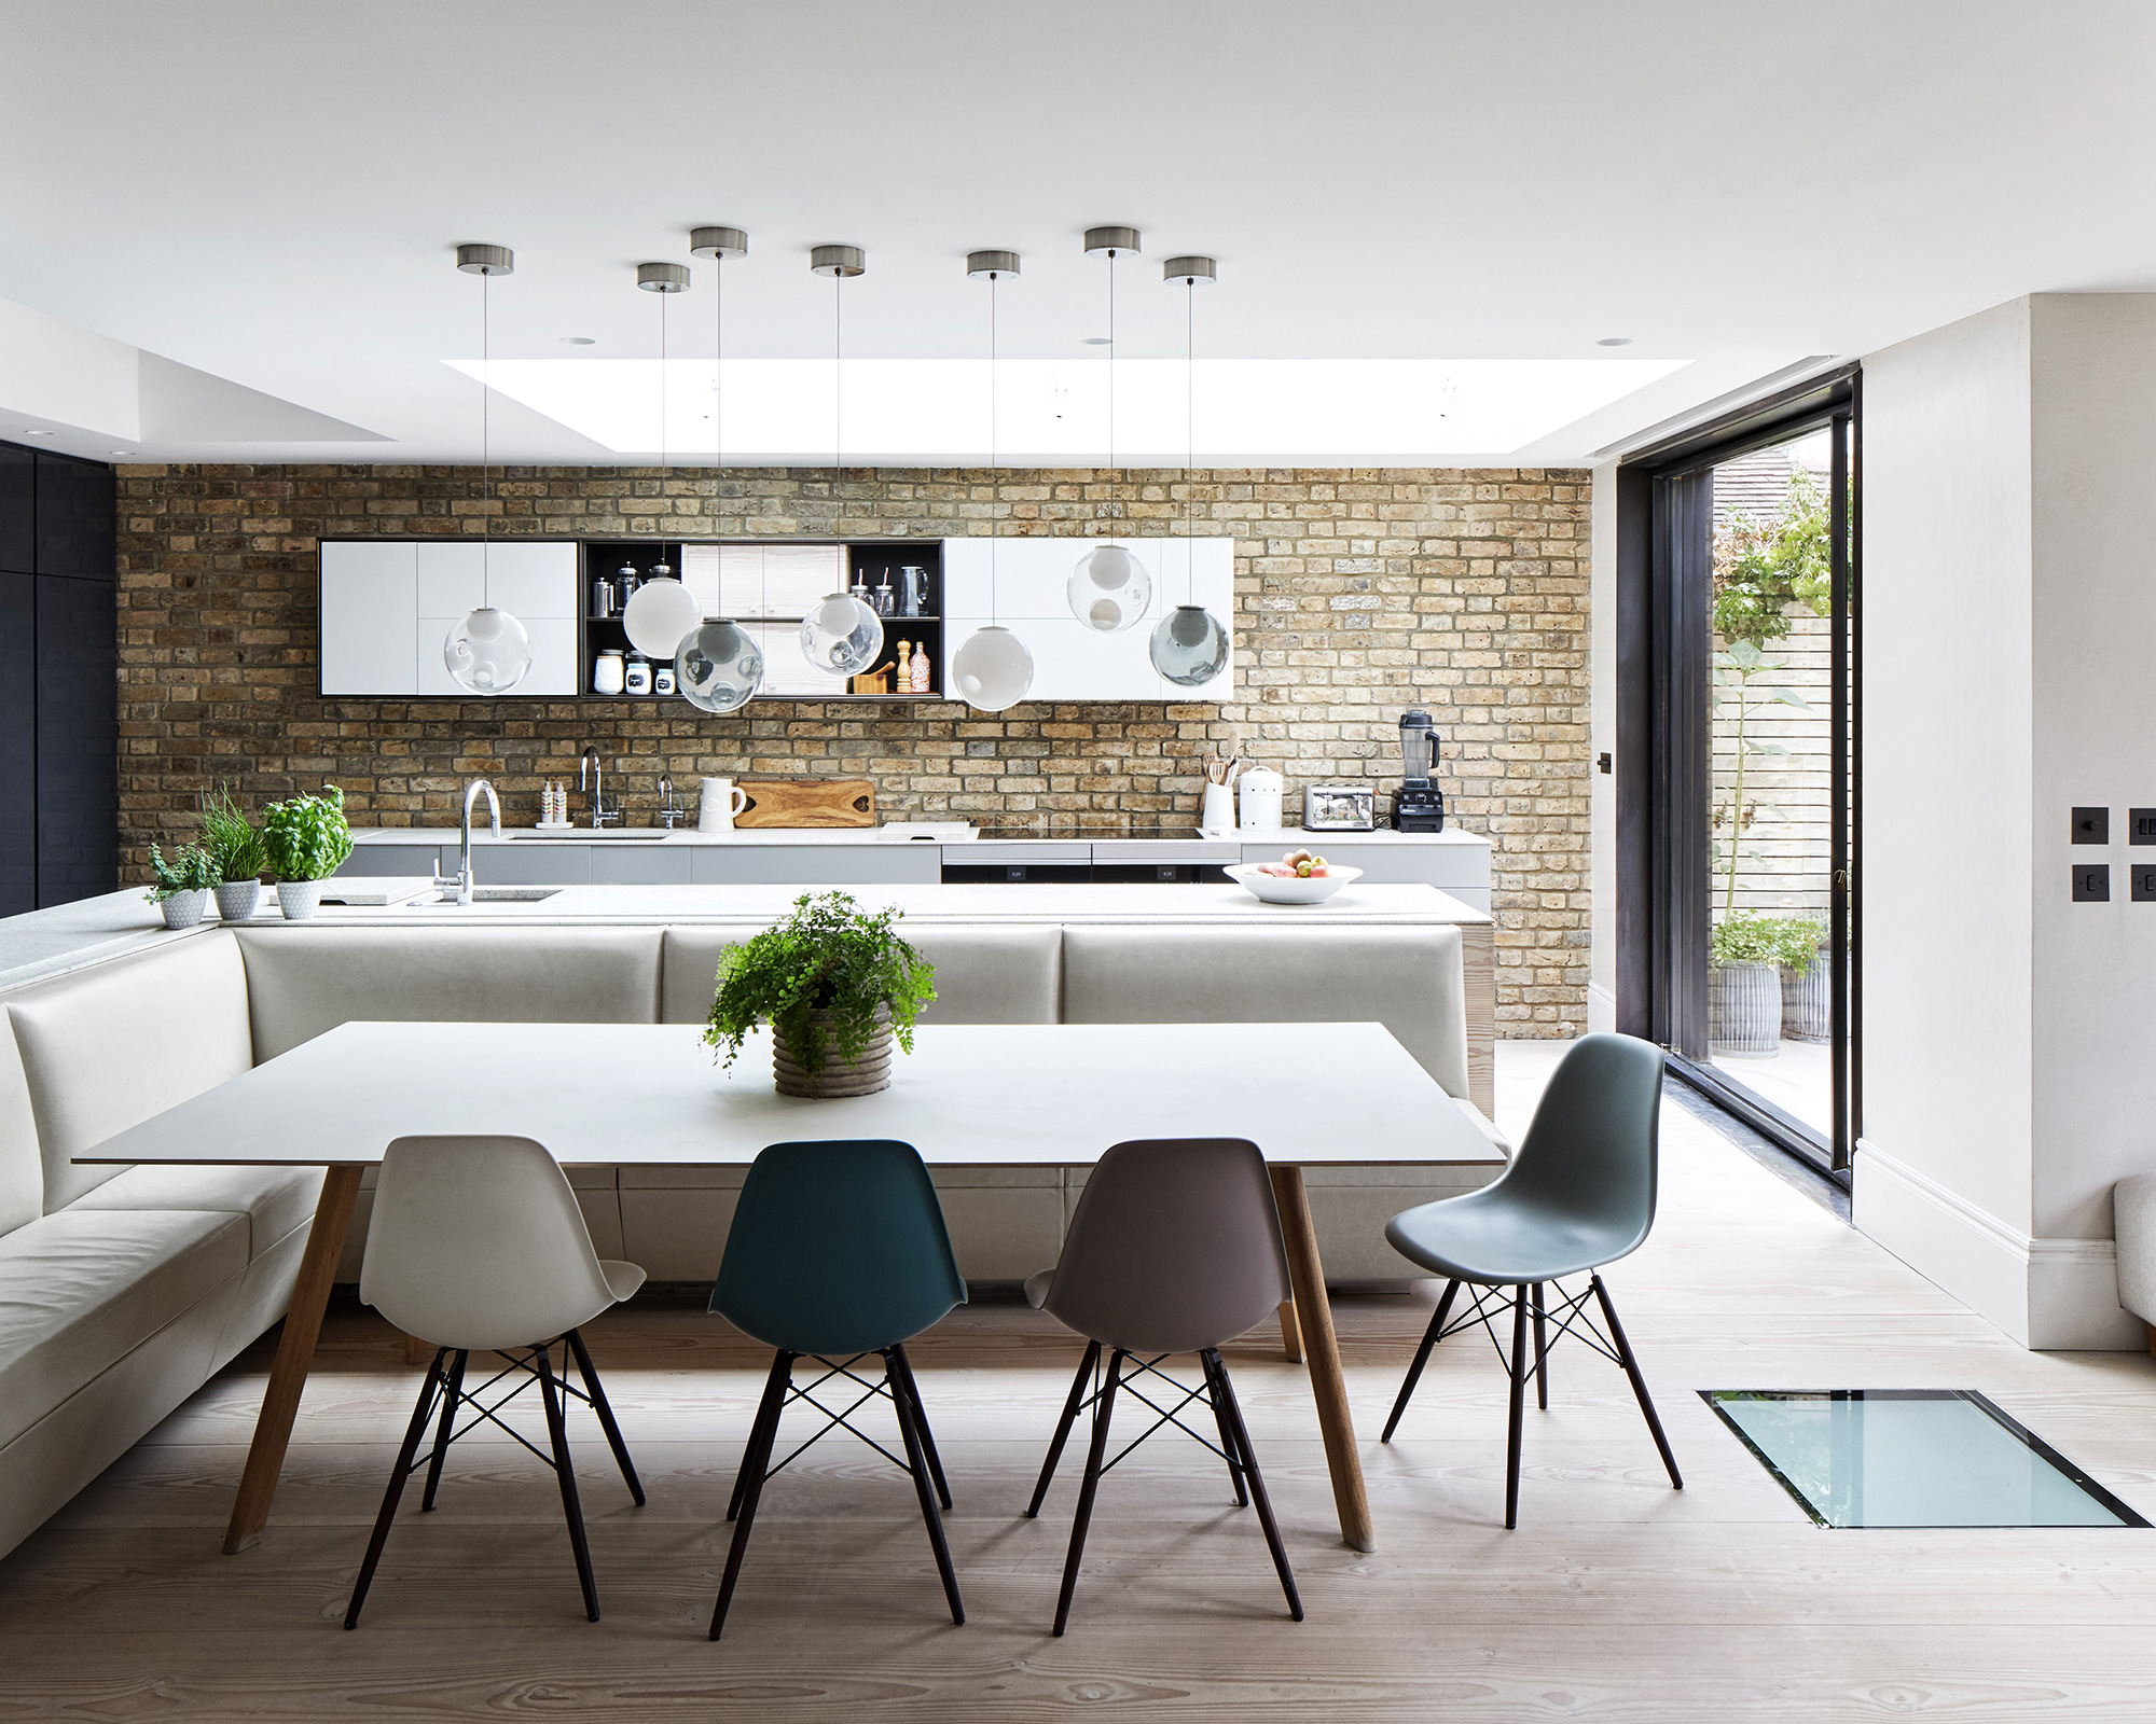
[[[1069,608],[1078,558],[1121,545],[1151,578],[1145,614],[1119,634],[1084,627]],[[1233,700],[1235,655],[1203,687],[1169,683],[1147,651],[1153,625],[1179,603],[1235,627],[1233,539],[1003,539],[994,547],[994,614],[1033,653],[1026,700]],[[990,541],[944,539],[944,679],[951,655],[990,621]]]

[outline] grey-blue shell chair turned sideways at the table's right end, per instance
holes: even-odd
[[[1410,1263],[1434,1276],[1445,1276],[1438,1315],[1414,1349],[1414,1364],[1399,1386],[1393,1416],[1384,1422],[1380,1442],[1391,1442],[1408,1396],[1429,1364],[1429,1349],[1445,1336],[1473,1323],[1490,1330],[1490,1308],[1483,1289],[1511,1289],[1511,1424],[1505,1442],[1505,1526],[1520,1524],[1520,1424],[1526,1403],[1526,1379],[1535,1377],[1535,1403],[1550,1405],[1548,1323],[1559,1334],[1585,1340],[1604,1358],[1623,1366],[1632,1394],[1654,1433],[1673,1489],[1684,1489],[1677,1457],[1662,1435],[1647,1379],[1632,1355],[1617,1306],[1602,1284],[1600,1269],[1639,1250],[1654,1226],[1656,1153],[1662,1114],[1662,1049],[1636,1037],[1580,1037],[1550,1075],[1535,1121],[1526,1129],[1511,1166],[1490,1185],[1466,1196],[1425,1202],[1386,1222],[1384,1237]],[[1559,1308],[1544,1304],[1544,1289],[1561,1276],[1587,1276],[1583,1293],[1557,1289]],[[1462,1287],[1475,1289],[1475,1308],[1447,1327],[1453,1299]],[[1602,1310],[1606,1334],[1587,1312],[1593,1299]],[[1503,1310],[1496,1295],[1494,1308]],[[1533,1315],[1535,1353],[1526,1353],[1526,1327]],[[1505,1355],[1498,1345],[1498,1355]]]

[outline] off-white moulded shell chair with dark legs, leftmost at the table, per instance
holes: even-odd
[[[584,1211],[561,1164],[530,1138],[397,1138],[382,1153],[382,1181],[367,1226],[367,1256],[360,1265],[360,1299],[405,1334],[436,1343],[433,1364],[418,1390],[412,1424],[397,1450],[367,1543],[367,1560],[351,1586],[345,1627],[360,1625],[360,1605],[382,1560],[382,1547],[397,1517],[405,1478],[416,1472],[414,1455],[427,1433],[427,1418],[440,1401],[433,1450],[427,1457],[427,1491],[420,1508],[433,1508],[448,1446],[481,1422],[492,1422],[541,1461],[561,1483],[561,1508],[569,1521],[569,1549],[584,1588],[584,1614],[599,1621],[599,1590],[591,1575],[584,1541],[584,1511],[569,1465],[565,1403],[584,1401],[599,1416],[621,1478],[640,1508],[645,1487],[636,1478],[614,1409],[606,1405],[599,1373],[578,1330],[645,1284],[634,1263],[602,1263],[591,1248]],[[556,1373],[552,1349],[563,1347]],[[472,1353],[498,1353],[507,1364],[479,1388],[466,1386]],[[569,1381],[567,1355],[584,1386]],[[492,1394],[502,1379],[507,1394]],[[502,1420],[502,1407],[533,1384],[545,1407],[548,1448],[539,1450]],[[457,1427],[457,1416],[470,1422]]]

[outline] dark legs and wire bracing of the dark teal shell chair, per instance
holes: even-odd
[[[800,1388],[793,1381],[793,1364],[804,1358],[824,1366],[824,1375],[815,1377],[808,1388]],[[772,1375],[763,1384],[763,1401],[757,1405],[757,1418],[748,1427],[748,1446],[742,1450],[742,1470],[733,1480],[733,1502],[727,1504],[727,1519],[733,1521],[733,1543],[727,1547],[727,1571],[718,1582],[718,1603],[711,1608],[711,1640],[718,1640],[720,1631],[727,1627],[727,1610],[733,1605],[733,1588],[742,1577],[742,1558],[748,1554],[748,1534],[757,1521],[757,1502],[763,1498],[763,1487],[832,1431],[849,1431],[860,1437],[860,1442],[914,1480],[914,1496],[921,1502],[921,1521],[927,1526],[929,1549],[936,1554],[936,1573],[942,1577],[944,1599],[951,1605],[951,1621],[964,1625],[966,1605],[957,1593],[957,1571],[951,1567],[951,1545],[944,1539],[942,1515],[938,1513],[938,1504],[942,1508],[951,1506],[951,1485],[944,1478],[942,1457],[936,1452],[936,1437],[929,1431],[927,1407],[921,1405],[921,1388],[914,1384],[914,1368],[908,1362],[903,1347],[886,1347],[875,1355],[884,1362],[884,1375],[862,1377],[854,1371],[854,1366],[865,1358],[871,1355],[854,1353],[847,1360],[828,1360],[819,1353],[780,1351],[772,1360]],[[832,1381],[849,1384],[858,1388],[860,1394],[856,1394],[845,1407],[826,1407],[824,1401],[817,1399],[817,1390]],[[841,1388],[839,1394],[845,1394],[845,1388]],[[837,1394],[830,1399],[837,1399]],[[875,1399],[888,1401],[890,1412],[897,1416],[899,1442],[906,1448],[903,1459],[854,1424],[854,1416]],[[772,1450],[778,1446],[778,1420],[785,1416],[785,1409],[796,1403],[806,1403],[824,1414],[824,1424],[806,1442],[796,1444],[783,1461],[772,1465]]]

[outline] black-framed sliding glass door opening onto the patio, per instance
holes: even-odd
[[[1628,927],[1651,950],[1628,1028],[1846,1172],[1861,1099],[1856,379],[1664,450],[1632,481],[1619,496],[1649,517],[1630,584],[1649,651],[1621,655],[1621,675],[1649,685],[1619,705],[1647,718],[1626,750],[1645,771],[1645,845],[1630,881],[1621,858],[1619,892],[1647,890],[1651,914]]]

